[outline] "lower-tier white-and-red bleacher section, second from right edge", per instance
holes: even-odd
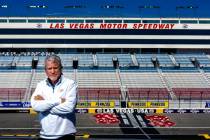
[[[121,72],[130,100],[169,99],[169,94],[157,72]]]

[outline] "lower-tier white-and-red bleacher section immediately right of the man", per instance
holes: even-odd
[[[115,72],[78,72],[79,100],[120,100],[120,81]]]

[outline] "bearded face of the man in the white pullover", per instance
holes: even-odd
[[[47,61],[45,72],[52,83],[55,83],[61,75],[61,68],[59,67],[58,63],[55,63],[54,61]]]

